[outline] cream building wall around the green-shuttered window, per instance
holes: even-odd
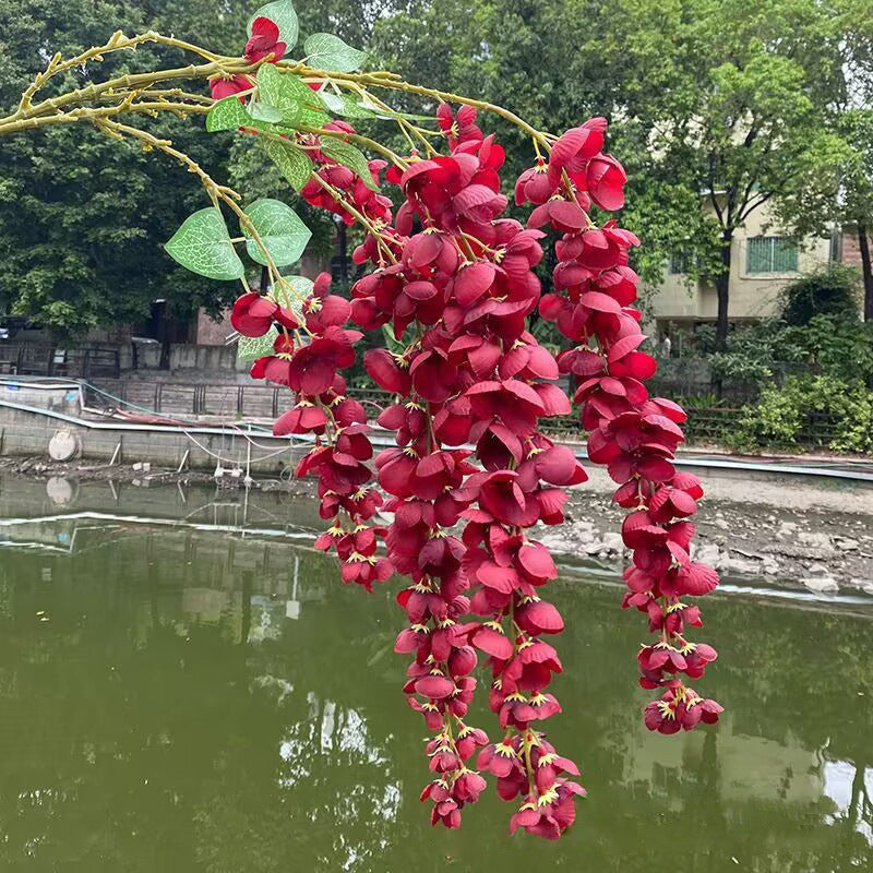
[[[801,273],[808,273],[828,262],[829,239],[809,239],[800,247],[797,273],[746,272],[749,239],[780,236],[778,229],[765,226],[772,218],[766,205],[753,212],[744,228],[734,235],[731,247],[730,310],[731,320],[760,320],[776,314],[779,290]],[[714,283],[689,286],[684,275],[667,274],[653,298],[659,321],[715,321],[718,299]]]

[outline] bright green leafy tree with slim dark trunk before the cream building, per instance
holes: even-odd
[[[840,152],[826,121],[846,87],[841,19],[817,0],[622,0],[613,17],[626,35],[613,61],[626,68],[626,113],[647,175],[697,192],[710,213],[715,232],[689,244],[715,262],[723,349],[737,230],[796,194],[801,170],[823,171]],[[673,211],[667,202],[661,212]]]

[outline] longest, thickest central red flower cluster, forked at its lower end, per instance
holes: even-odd
[[[538,729],[560,711],[549,686],[562,670],[541,637],[563,621],[541,599],[557,573],[530,529],[560,524],[562,487],[586,477],[569,449],[538,431],[541,418],[570,411],[555,360],[526,331],[543,235],[501,217],[504,154],[482,136],[475,110],[454,119],[445,106],[440,120],[451,153],[399,176],[404,204],[394,226],[356,252],[375,270],[352,290],[362,327],[390,323],[408,340],[403,354],[364,358],[373,381],[398,395],[379,419],[397,447],[375,461],[394,512],[387,554],[411,582],[398,597],[409,626],[396,648],[415,655],[405,692],[435,731],[436,778],[422,793],[434,823],[458,826],[478,798],[485,780],[468,762],[485,746],[478,768],[498,777],[502,798],[519,799],[512,829],[558,837],[584,789]],[[479,621],[464,622],[467,613]],[[498,743],[464,722],[478,657],[492,674]]]

